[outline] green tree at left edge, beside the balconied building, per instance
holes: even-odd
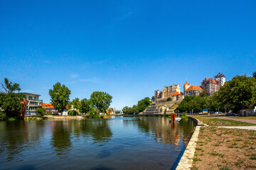
[[[15,93],[16,91],[18,93]],[[0,107],[7,116],[16,116],[22,109],[21,101],[25,96],[19,91],[21,91],[19,84],[9,81],[7,78],[4,79],[4,83],[1,83]]]

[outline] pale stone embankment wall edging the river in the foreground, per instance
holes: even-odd
[[[205,125],[196,118],[193,118],[193,117],[188,117],[188,118],[196,122],[196,130],[193,132],[191,140],[188,142],[188,146],[186,147],[186,150],[183,153],[183,156],[181,157],[181,160],[178,163],[176,170],[191,169],[191,166],[193,163],[193,157],[196,151],[196,142],[198,141],[200,128]]]

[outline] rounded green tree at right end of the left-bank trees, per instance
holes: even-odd
[[[94,91],[91,94],[90,99],[92,101],[92,106],[97,108],[101,113],[105,113],[112,102],[112,96],[102,91]]]

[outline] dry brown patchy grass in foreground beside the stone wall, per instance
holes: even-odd
[[[256,131],[201,128],[191,169],[256,169]]]

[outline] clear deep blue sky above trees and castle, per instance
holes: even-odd
[[[0,1],[0,81],[132,106],[154,90],[256,71],[256,1]]]

